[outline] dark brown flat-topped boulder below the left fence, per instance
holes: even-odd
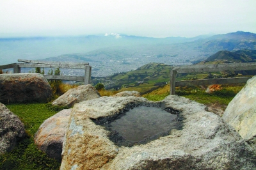
[[[52,89],[40,73],[4,73],[0,75],[0,102],[47,102]]]

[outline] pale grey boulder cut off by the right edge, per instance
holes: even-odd
[[[248,141],[256,145],[256,76],[249,79],[228,104],[223,120],[234,127]]]

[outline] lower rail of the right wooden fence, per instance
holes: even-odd
[[[210,85],[210,84],[236,84],[247,82],[252,77],[237,77],[237,78],[222,78],[222,79],[200,79],[193,81],[177,81],[175,86],[196,86],[196,85]]]

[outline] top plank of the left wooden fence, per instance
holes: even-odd
[[[45,64],[45,65],[89,65],[89,63],[74,63],[74,62],[63,62],[63,61],[40,61],[40,60],[28,60],[18,59],[20,62],[33,63],[33,64]]]

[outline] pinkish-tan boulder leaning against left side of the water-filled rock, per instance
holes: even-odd
[[[45,120],[34,137],[36,146],[48,157],[55,158],[59,162],[61,162],[62,144],[71,111],[72,109],[64,109]]]

